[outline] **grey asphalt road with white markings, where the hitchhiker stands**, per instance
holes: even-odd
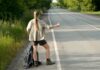
[[[99,17],[65,9],[50,9],[44,20],[47,19],[50,24],[61,24],[46,36],[51,58],[56,64],[45,64],[45,50],[39,46],[39,56],[43,65],[27,70],[100,70]],[[8,70],[25,70],[23,57],[24,52],[14,60]]]

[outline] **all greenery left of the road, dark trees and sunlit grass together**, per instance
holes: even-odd
[[[6,70],[28,40],[32,12],[50,8],[51,0],[0,0],[0,70]]]

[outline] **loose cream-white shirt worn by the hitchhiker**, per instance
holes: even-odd
[[[29,32],[29,41],[39,41],[45,38],[45,29],[49,29],[49,25],[47,25],[44,21],[38,19],[38,31],[35,30],[35,19],[29,21],[27,25],[27,32]]]

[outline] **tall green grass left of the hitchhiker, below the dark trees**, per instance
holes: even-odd
[[[26,40],[22,21],[0,20],[0,70],[6,70]]]

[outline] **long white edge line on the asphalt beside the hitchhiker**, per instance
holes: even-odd
[[[52,25],[49,16],[48,16],[48,20],[49,20],[50,25]],[[57,61],[57,68],[58,68],[57,70],[62,70],[61,63],[60,63],[59,52],[58,52],[58,48],[57,48],[57,42],[56,42],[56,39],[55,39],[54,30],[51,29],[51,32],[52,32],[52,37],[53,37],[53,41],[54,41],[54,48],[55,48],[55,53],[56,53],[56,58],[57,58],[57,60],[56,60]]]

